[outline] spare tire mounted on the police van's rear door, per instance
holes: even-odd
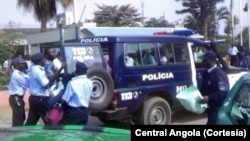
[[[106,70],[91,68],[87,71],[87,77],[93,82],[93,93],[89,101],[91,113],[106,109],[111,103],[114,93],[114,82]]]

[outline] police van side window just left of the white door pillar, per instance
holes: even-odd
[[[187,47],[184,43],[160,43],[160,55],[165,54],[168,63],[186,63],[188,61]],[[162,51],[161,51],[162,50]],[[161,54],[161,52],[163,52]]]

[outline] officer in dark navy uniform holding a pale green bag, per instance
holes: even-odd
[[[218,112],[229,91],[229,81],[224,70],[216,65],[216,54],[207,51],[201,56],[202,63],[207,68],[202,78],[201,94],[204,96],[200,103],[207,103],[207,125],[216,124]]]

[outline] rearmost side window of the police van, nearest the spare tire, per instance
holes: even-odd
[[[124,64],[127,67],[148,66],[158,63],[156,46],[153,43],[126,43],[124,46]]]

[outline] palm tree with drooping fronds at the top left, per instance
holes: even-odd
[[[73,0],[18,0],[17,5],[27,12],[34,12],[35,19],[41,22],[41,32],[45,32],[47,21],[57,13],[56,1],[59,1],[64,8],[73,3]]]

